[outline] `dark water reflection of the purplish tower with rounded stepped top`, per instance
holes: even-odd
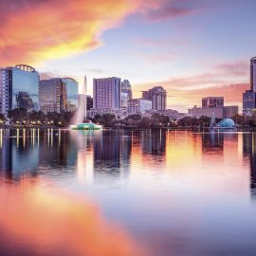
[[[141,133],[142,151],[150,155],[165,155],[166,132],[162,130],[143,131]]]

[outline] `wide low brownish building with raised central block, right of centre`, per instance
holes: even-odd
[[[202,107],[193,106],[189,114],[196,119],[212,114],[216,119],[229,119],[238,114],[238,106],[224,106],[223,97],[206,97],[202,99]]]

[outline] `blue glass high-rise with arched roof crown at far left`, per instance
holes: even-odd
[[[17,95],[26,92],[34,109],[39,109],[38,72],[26,64],[0,68],[0,113],[7,115],[9,110],[18,107]]]

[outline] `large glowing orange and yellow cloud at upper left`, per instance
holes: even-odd
[[[116,27],[139,1],[3,0],[1,64],[39,63],[101,46],[101,33]]]

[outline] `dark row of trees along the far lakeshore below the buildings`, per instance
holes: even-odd
[[[15,108],[9,111],[8,119],[0,114],[0,126],[9,121],[14,126],[54,126],[67,127],[75,113],[43,113],[42,111],[27,112],[25,108]],[[232,118],[241,127],[256,127],[256,114],[251,117],[236,115]],[[109,128],[207,128],[210,126],[210,118],[202,116],[199,119],[184,117],[177,121],[168,116],[153,114],[150,117],[143,117],[140,114],[130,115],[124,119],[116,118],[113,114],[96,115],[91,119],[94,123]],[[216,122],[221,119],[216,119]]]

